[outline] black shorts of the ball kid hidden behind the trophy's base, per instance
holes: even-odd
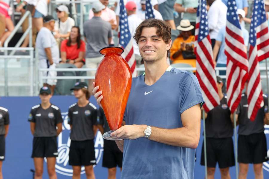
[[[115,141],[104,140],[103,167],[122,167],[123,153],[118,148]]]

